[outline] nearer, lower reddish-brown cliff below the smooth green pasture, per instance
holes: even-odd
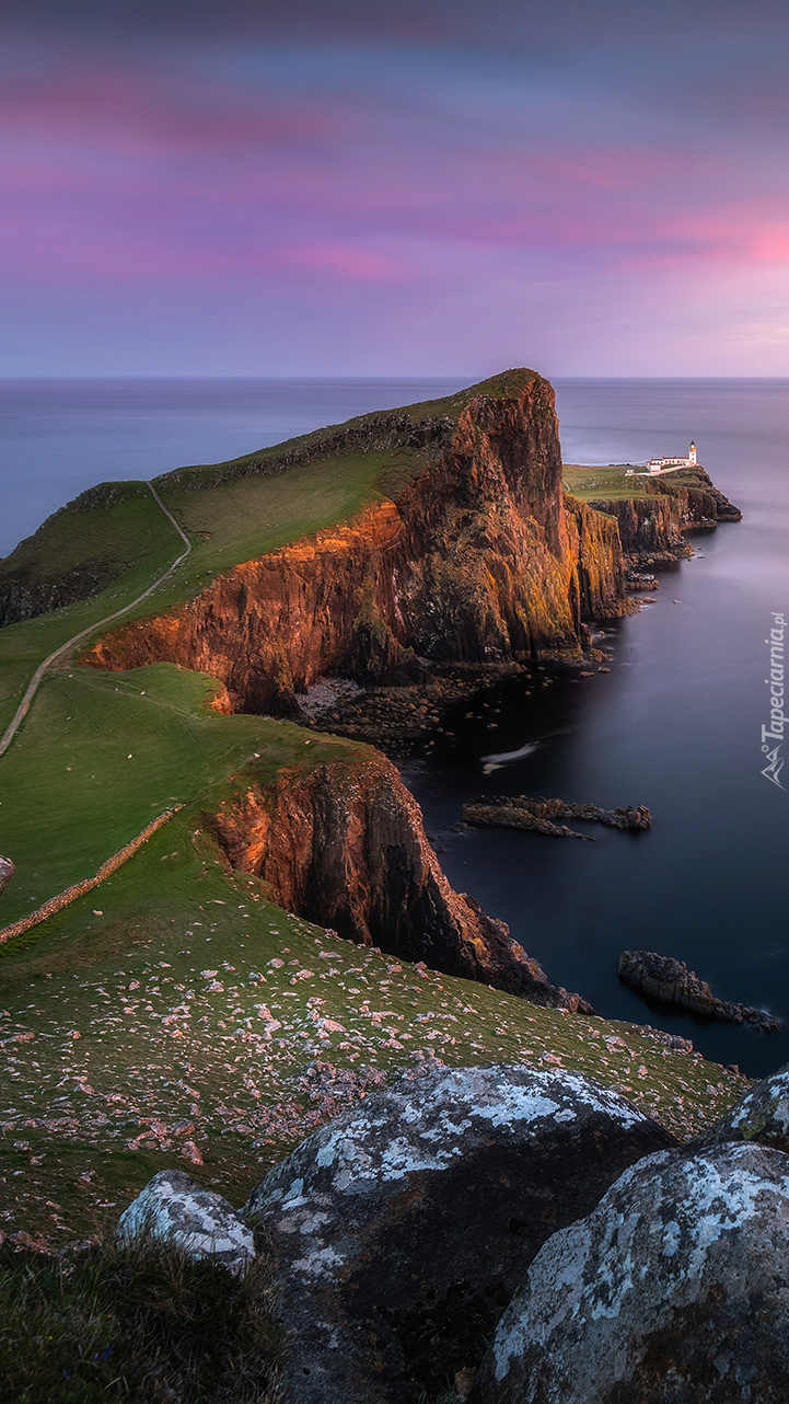
[[[271,788],[250,779],[209,823],[230,866],[260,876],[288,911],[535,1004],[590,1008],[549,984],[503,921],[452,892],[417,802],[378,751],[284,769]]]

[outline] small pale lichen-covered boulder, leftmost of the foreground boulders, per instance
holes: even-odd
[[[149,1234],[177,1244],[191,1258],[213,1258],[240,1272],[254,1258],[253,1234],[233,1206],[201,1189],[184,1170],[161,1170],[121,1214],[117,1237],[132,1243]]]

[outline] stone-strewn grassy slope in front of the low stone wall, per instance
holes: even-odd
[[[303,736],[275,724],[281,744]],[[232,788],[243,785],[240,772]],[[364,1085],[425,1057],[569,1067],[681,1136],[748,1085],[636,1025],[541,1009],[337,939],[227,873],[201,807],[100,894],[6,946],[0,981],[1,1224],[55,1241],[105,1231],[157,1170],[184,1165],[185,1140],[204,1157],[185,1168],[243,1203],[347,1105],[340,1074]]]

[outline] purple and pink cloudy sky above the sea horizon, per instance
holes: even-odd
[[[789,375],[785,0],[3,0],[0,375]]]

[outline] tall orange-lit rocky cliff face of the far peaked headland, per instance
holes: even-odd
[[[577,649],[623,595],[615,522],[563,498],[553,390],[475,395],[392,498],[246,562],[188,605],[107,635],[87,661],[211,673],[232,710],[293,712],[321,674],[390,684],[430,661]]]

